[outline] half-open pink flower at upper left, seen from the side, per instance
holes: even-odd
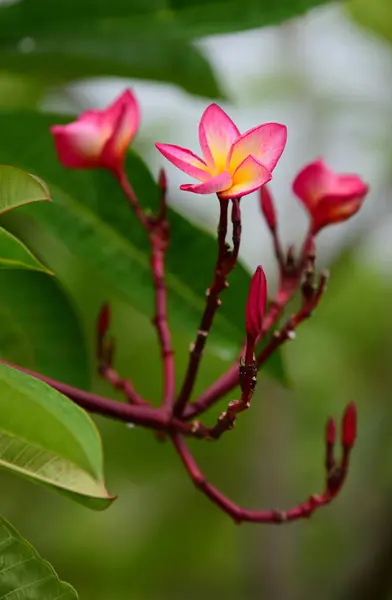
[[[53,125],[60,162],[71,169],[106,168],[118,172],[139,128],[139,105],[130,90],[104,110],[87,110],[68,125]]]

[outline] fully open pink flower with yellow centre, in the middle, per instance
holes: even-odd
[[[286,137],[286,127],[278,123],[259,125],[241,135],[230,117],[211,104],[199,125],[203,158],[172,144],[156,144],[156,147],[176,167],[202,182],[181,185],[182,190],[238,198],[271,179]]]

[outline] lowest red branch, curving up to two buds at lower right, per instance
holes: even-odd
[[[330,422],[331,420],[328,421],[328,424]],[[257,511],[241,508],[206,479],[182,436],[175,434],[172,436],[172,441],[195,486],[236,523],[240,524],[248,521],[252,523],[280,524],[309,518],[316,510],[329,504],[340,492],[348,473],[350,453],[355,442],[356,412],[353,404],[349,404],[346,408],[342,429],[343,452],[341,461],[338,466],[335,463],[329,466],[328,459],[331,455],[331,445],[332,447],[334,446],[335,439],[331,439],[331,428],[327,426],[325,452],[326,464],[328,466],[326,468],[326,485],[324,491],[321,494],[310,496],[308,500],[289,510],[273,509]]]

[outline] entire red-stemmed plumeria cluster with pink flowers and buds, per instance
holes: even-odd
[[[315,268],[315,237],[327,225],[352,217],[361,207],[368,186],[356,175],[335,173],[323,160],[305,166],[293,182],[293,192],[309,216],[309,228],[298,253],[293,247],[284,250],[278,234],[278,219],[268,182],[284,151],[287,131],[279,123],[259,125],[241,134],[230,117],[216,104],[203,113],[199,124],[202,157],[172,144],[157,143],[161,154],[198,183],[186,183],[181,189],[195,194],[216,194],[220,204],[218,248],[213,281],[206,295],[205,309],[194,343],[188,368],[176,395],[175,361],[168,324],[165,286],[165,255],[170,242],[167,223],[167,181],[162,171],[159,186],[162,202],[159,214],[151,217],[142,209],[125,172],[126,151],[140,123],[138,103],[133,93],[125,91],[106,110],[89,110],[68,125],[51,128],[61,163],[68,168],[104,168],[111,171],[122,187],[131,209],[145,229],[151,245],[151,271],[155,289],[153,325],[161,348],[163,365],[163,400],[154,407],[141,397],[129,380],[122,379],[113,365],[114,341],[108,338],[109,307],[104,306],[97,321],[97,359],[99,372],[116,389],[122,390],[127,404],[94,396],[53,380],[51,385],[66,393],[81,406],[123,421],[154,429],[168,436],[195,485],[236,522],[282,523],[309,517],[314,510],[329,503],[340,491],[346,478],[349,457],[356,438],[356,408],[350,403],[342,420],[342,457],[334,455],[336,424],[329,419],[325,434],[326,484],[322,494],[287,511],[252,511],[226,498],[197,466],[185,436],[216,440],[233,428],[239,413],[251,405],[258,370],[286,340],[293,339],[296,328],[318,306],[325,290],[327,275]],[[260,208],[271,232],[279,265],[279,287],[268,302],[267,281],[261,266],[256,269],[245,307],[246,335],[241,354],[217,381],[192,401],[192,392],[215,314],[222,303],[221,294],[236,265],[241,241],[241,199],[258,191]],[[232,245],[226,241],[229,210],[232,221]],[[282,324],[285,309],[299,292],[300,307]],[[38,376],[38,375],[37,375]],[[41,376],[42,378],[42,376]],[[196,417],[203,414],[224,395],[240,387],[239,399],[231,400],[217,423],[207,427]]]

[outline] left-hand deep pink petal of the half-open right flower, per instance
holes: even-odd
[[[298,173],[293,181],[293,192],[311,211],[335,183],[336,174],[319,158]]]

